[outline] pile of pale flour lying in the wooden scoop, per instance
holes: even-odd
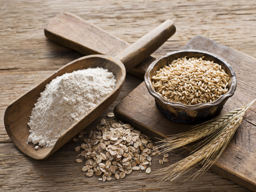
[[[116,86],[107,69],[89,68],[53,79],[32,109],[27,142],[52,147],[61,134],[90,112]]]

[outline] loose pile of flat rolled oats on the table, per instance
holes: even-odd
[[[84,133],[80,133],[79,137]],[[133,170],[146,170],[149,174],[150,154],[161,154],[149,137],[131,125],[105,119],[97,125],[97,131],[89,131],[88,138],[83,139],[75,151],[81,151],[76,162],[82,163],[84,158],[86,160],[82,168],[86,176],[102,175],[98,180],[104,182],[112,180],[112,175],[122,179]]]

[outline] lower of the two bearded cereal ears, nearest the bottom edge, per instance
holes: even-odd
[[[201,142],[198,147],[199,149],[195,153],[189,155],[177,163],[174,163],[173,165],[160,169],[160,173],[158,174],[164,174],[165,176],[163,176],[159,182],[163,182],[169,179],[172,181],[175,178],[187,173],[200,162],[202,163],[203,167],[195,173],[195,176],[210,168],[210,166],[217,161],[217,159],[225,150],[230,139],[236,132],[237,127],[242,122],[246,110],[248,110],[255,101],[256,99],[254,99],[248,105],[239,108],[240,110],[235,109],[236,115],[232,116],[232,118],[228,118],[229,120],[227,123],[222,124],[222,127],[218,128],[218,131],[214,134],[214,136],[211,136],[210,139]],[[230,116],[230,113],[226,114],[229,114],[228,116]],[[224,114],[224,116],[226,114]],[[211,121],[210,124],[212,123],[213,122]],[[207,123],[205,126],[207,126]]]

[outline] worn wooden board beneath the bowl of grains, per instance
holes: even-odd
[[[237,75],[237,90],[221,113],[240,108],[256,97],[256,59],[215,41],[196,35],[184,49],[199,49],[225,59]],[[132,124],[152,138],[167,138],[188,131],[192,125],[168,120],[155,105],[145,83],[141,83],[114,109],[120,120]],[[229,178],[253,191],[256,190],[256,105],[248,110],[221,158],[211,167],[217,174]],[[187,155],[187,153],[184,153]],[[175,182],[175,181],[174,181]]]

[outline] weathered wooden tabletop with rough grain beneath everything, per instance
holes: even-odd
[[[46,23],[61,12],[72,12],[128,43],[164,20],[172,19],[177,31],[154,57],[181,49],[197,34],[256,57],[256,1],[9,0],[1,1],[0,10],[0,191],[248,191],[211,171],[186,180],[199,167],[173,182],[158,184],[155,173],[161,167],[160,157],[153,159],[150,174],[138,171],[123,180],[103,183],[96,176],[85,177],[82,164],[75,162],[78,153],[74,147],[80,142],[69,142],[48,159],[35,161],[11,142],[3,117],[16,98],[56,69],[82,56],[44,36]],[[127,75],[118,99],[86,129],[93,129],[141,82]],[[182,158],[176,153],[169,155],[169,163]]]

